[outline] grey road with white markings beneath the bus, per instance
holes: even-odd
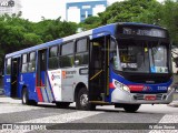
[[[164,104],[141,105],[137,113],[126,113],[122,109],[109,105],[97,106],[96,111],[78,111],[75,104],[68,109],[57,109],[55,104],[42,103],[29,106],[22,105],[20,100],[0,98],[0,123],[12,124],[13,132],[17,133],[37,132],[28,129],[34,125],[39,125],[43,132],[110,133],[119,130],[127,133],[154,133],[164,127],[161,131],[169,133],[178,132],[178,108]],[[7,132],[6,127],[7,125],[3,125],[0,132]]]

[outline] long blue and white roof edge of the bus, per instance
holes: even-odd
[[[101,34],[103,32],[108,32],[108,34],[113,34],[116,25],[118,25],[118,24],[119,25],[121,25],[121,24],[122,25],[142,25],[142,27],[152,27],[152,28],[159,28],[160,29],[160,27],[158,27],[158,25],[146,24],[146,23],[135,23],[135,22],[111,23],[111,24],[102,25],[102,27],[99,27],[99,28],[96,28],[96,29],[91,29],[91,30],[81,32],[81,33],[77,33],[77,34],[73,34],[73,35],[57,39],[57,40],[46,42],[46,43],[42,43],[42,44],[39,44],[39,45],[34,45],[34,47],[31,47],[31,48],[27,48],[27,49],[17,51],[17,52],[12,52],[12,53],[7,54],[6,58],[11,58],[11,57],[17,58],[17,57],[20,57],[23,53],[28,53],[28,52],[36,51],[36,50],[42,50],[44,48],[49,48],[49,47],[60,44],[60,43],[66,42],[66,41],[70,41],[72,39],[82,38],[82,37],[86,37],[86,35],[92,35],[91,38],[98,38],[98,37],[105,35],[105,34]]]

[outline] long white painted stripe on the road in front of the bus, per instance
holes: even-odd
[[[89,112],[89,111],[77,111],[72,113],[66,113],[60,115],[52,115],[47,117],[33,119],[30,121],[23,121],[20,123],[68,123],[76,120],[81,120],[88,116],[101,114],[103,112]]]

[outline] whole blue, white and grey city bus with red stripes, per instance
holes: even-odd
[[[144,23],[112,23],[6,55],[4,93],[22,104],[56,103],[78,110],[172,101],[168,31]]]

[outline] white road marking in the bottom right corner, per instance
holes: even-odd
[[[156,124],[154,130],[151,130],[149,133],[178,133],[178,130],[174,130],[174,124],[178,123],[178,115],[167,114],[159,121],[159,123],[164,123],[160,124],[160,130],[159,126],[157,126]],[[172,123],[172,125],[169,125],[169,123]],[[171,130],[167,130],[168,127]]]

